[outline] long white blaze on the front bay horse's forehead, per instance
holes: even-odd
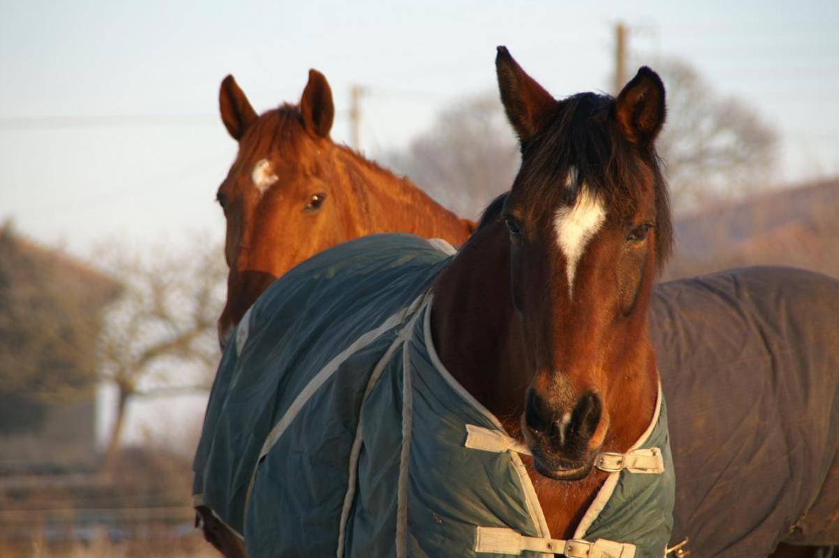
[[[603,209],[601,199],[591,194],[585,185],[582,185],[580,193],[577,194],[574,205],[560,207],[554,214],[556,241],[565,254],[569,297],[572,297],[574,292],[577,262],[580,261],[586,244],[600,230],[604,220],[606,210]]]

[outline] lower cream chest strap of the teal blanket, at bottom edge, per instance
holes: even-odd
[[[565,555],[566,558],[633,558],[635,545],[613,540],[540,539],[526,537],[507,527],[478,527],[475,551],[493,554],[521,555],[524,550]]]

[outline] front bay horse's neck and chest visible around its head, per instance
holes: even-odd
[[[508,243],[495,240],[498,235],[506,238],[507,234],[500,221],[487,225],[472,236],[440,274],[433,289],[431,330],[435,349],[446,369],[498,417],[511,435],[520,437],[520,417],[530,378],[529,357],[519,315],[513,308]],[[642,345],[633,359],[638,359],[644,369],[638,370],[638,375],[626,375],[622,383],[614,386],[617,393],[627,395],[622,398],[627,401],[627,408],[615,411],[621,413],[622,419],[624,415],[638,414],[647,418],[616,421],[604,449],[627,451],[653,416],[658,375],[651,346]],[[632,409],[633,405],[640,405],[641,412]],[[593,470],[580,481],[556,481],[537,473],[528,456],[522,456],[522,460],[551,536],[571,538],[606,473]]]

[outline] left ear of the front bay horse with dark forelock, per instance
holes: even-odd
[[[547,126],[559,102],[521,69],[507,47],[498,47],[495,70],[501,102],[524,148],[524,144]]]

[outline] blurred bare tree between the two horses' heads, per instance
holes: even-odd
[[[468,98],[440,112],[428,132],[384,163],[404,173],[456,214],[474,218],[509,189],[519,147],[498,94]]]

